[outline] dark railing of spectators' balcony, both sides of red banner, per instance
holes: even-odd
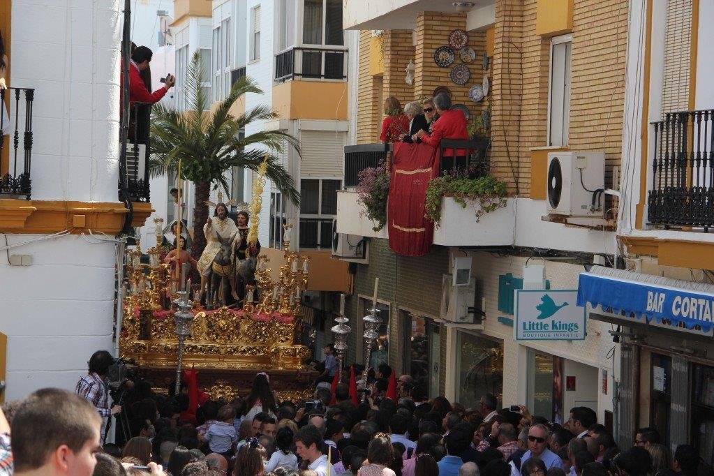
[[[488,148],[491,141],[486,138],[477,138],[471,141],[456,139],[443,139],[439,144],[441,162],[439,173],[446,172],[446,166],[450,166],[451,157],[458,158],[457,165],[468,167],[468,173],[474,178],[488,175],[490,170],[488,163]],[[376,167],[380,163],[388,161],[388,152],[391,151],[391,143],[371,143],[359,146],[345,146],[345,177],[344,186],[354,187],[359,183],[359,173],[368,167]],[[445,154],[446,153],[446,159]]]

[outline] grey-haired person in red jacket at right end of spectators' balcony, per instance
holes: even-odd
[[[434,97],[434,106],[441,117],[434,123],[431,133],[418,131],[411,136],[412,140],[416,141],[419,138],[423,143],[432,147],[438,147],[442,139],[467,141],[466,118],[463,116],[463,112],[451,109],[451,98],[444,93],[437,94]],[[451,171],[457,167],[468,167],[468,151],[460,148],[456,149],[455,154],[452,149],[445,149],[441,157],[441,170]]]

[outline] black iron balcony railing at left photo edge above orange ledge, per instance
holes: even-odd
[[[0,114],[0,196],[31,196],[30,166],[32,158],[32,88],[7,88],[0,90],[0,108],[5,108],[9,96],[9,116]],[[24,123],[20,121],[21,103],[24,101]],[[3,135],[7,133],[7,138]],[[20,146],[22,137],[22,146]],[[7,149],[5,148],[7,143]],[[5,160],[6,150],[8,161]]]

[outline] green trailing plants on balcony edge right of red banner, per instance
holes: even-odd
[[[492,176],[470,178],[468,173],[457,171],[429,181],[424,213],[438,226],[441,219],[441,200],[444,196],[450,196],[462,208],[466,208],[468,202],[473,203],[478,222],[484,213],[506,206],[507,194],[506,183]]]

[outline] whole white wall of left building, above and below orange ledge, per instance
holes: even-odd
[[[121,4],[13,2],[11,85],[36,88],[33,201],[118,201]],[[115,244],[73,235],[18,247],[46,236],[5,238],[9,254],[32,258],[15,267],[0,253],[6,397],[74,390],[91,353],[112,349]]]

